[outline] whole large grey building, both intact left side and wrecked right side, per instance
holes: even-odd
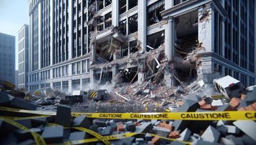
[[[48,0],[29,11],[29,90],[225,75],[255,84],[254,1]]]

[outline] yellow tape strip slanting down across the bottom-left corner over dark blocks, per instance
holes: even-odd
[[[9,123],[9,124],[11,124],[11,125],[13,125],[13,126],[15,126],[17,128],[20,128],[21,130],[24,130],[25,132],[31,132],[31,130],[29,130],[29,128],[24,127],[20,123],[17,123],[15,121],[9,120],[8,118],[4,118],[4,117],[0,116],[0,120],[3,120],[6,123]],[[36,144],[38,144],[38,145],[46,144],[44,139],[43,139],[43,137],[41,135],[37,134],[36,132],[31,132],[31,134],[34,137]]]

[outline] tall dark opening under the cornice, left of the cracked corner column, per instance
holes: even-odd
[[[191,11],[175,18],[175,72],[180,81],[196,79],[196,62],[192,53],[198,49],[198,11]]]

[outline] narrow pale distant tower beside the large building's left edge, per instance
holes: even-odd
[[[19,47],[19,72],[18,72],[18,88],[28,88],[28,61],[29,61],[29,41],[28,41],[28,25],[22,25],[18,31],[18,47]]]

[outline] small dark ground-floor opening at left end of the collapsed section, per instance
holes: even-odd
[[[99,73],[95,74],[95,81],[100,85],[106,84],[112,79],[112,71],[108,71],[107,67],[102,67]]]

